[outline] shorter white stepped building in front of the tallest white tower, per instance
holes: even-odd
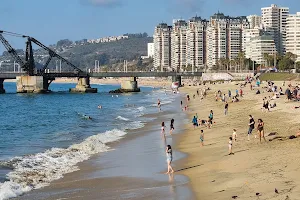
[[[250,59],[256,61],[257,64],[264,64],[267,66],[267,60],[265,60],[265,54],[274,55],[276,53],[276,47],[274,39],[271,35],[263,33],[260,36],[251,38],[250,42]]]

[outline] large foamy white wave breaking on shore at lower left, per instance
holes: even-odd
[[[7,174],[8,181],[0,183],[0,200],[17,197],[32,189],[50,184],[64,174],[79,170],[76,164],[96,153],[109,150],[109,142],[121,139],[126,133],[117,129],[88,137],[82,143],[67,149],[52,148],[43,153],[15,157],[4,166],[13,168]]]

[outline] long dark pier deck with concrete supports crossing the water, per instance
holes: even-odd
[[[90,87],[90,78],[106,77],[131,77],[131,80],[124,81],[121,85],[124,91],[138,91],[137,77],[172,77],[174,82],[181,84],[181,77],[200,77],[202,72],[49,72],[42,76],[29,76],[26,72],[0,72],[0,93],[4,93],[3,82],[5,79],[17,79],[17,92],[47,92],[48,87],[55,78],[78,78],[78,84],[71,92],[97,92]]]

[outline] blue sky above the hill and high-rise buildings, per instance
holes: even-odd
[[[161,22],[225,15],[260,14],[271,4],[300,11],[300,0],[1,0],[0,30],[32,36],[46,45],[60,39],[95,39],[147,32]],[[298,9],[298,10],[297,10]],[[7,38],[14,48],[24,39]],[[0,51],[4,49],[0,44]]]

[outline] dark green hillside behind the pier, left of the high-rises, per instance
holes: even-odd
[[[146,34],[127,35],[129,36],[128,39],[103,43],[80,43],[78,41],[73,43],[64,39],[58,41],[55,45],[50,45],[50,48],[83,70],[94,68],[95,60],[99,61],[101,70],[123,69],[124,60],[128,61],[128,68],[133,68],[133,66],[135,66],[135,69],[151,68],[152,59],[141,60],[140,57],[147,55],[147,44],[153,42],[153,38],[148,37]],[[34,51],[36,66],[44,65],[48,59],[48,53],[44,49]],[[17,52],[24,58],[24,50],[18,49]],[[3,52],[0,61],[13,63],[13,59],[6,51]],[[48,68],[55,69],[56,61],[57,59],[52,59]],[[7,66],[9,67],[8,64]],[[67,66],[63,64],[62,68],[66,69]]]

